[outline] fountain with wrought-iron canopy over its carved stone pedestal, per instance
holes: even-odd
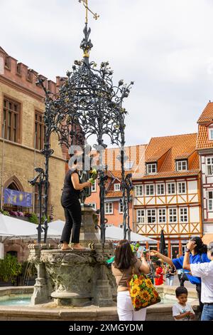
[[[91,29],[87,27],[88,5],[83,1],[86,9],[86,22],[84,38],[80,44],[83,50],[82,61],[75,61],[72,71],[67,71],[67,78],[63,78],[62,85],[57,93],[51,93],[44,84],[44,79],[33,71],[37,78],[37,86],[43,88],[45,93],[45,145],[41,153],[45,156],[45,170],[36,168],[38,176],[31,180],[31,185],[38,183],[40,190],[44,186],[44,224],[38,225],[38,244],[30,245],[29,262],[33,262],[38,269],[38,277],[35,282],[33,305],[46,304],[55,301],[57,306],[113,306],[113,294],[115,294],[115,280],[111,269],[107,266],[107,259],[114,254],[113,244],[105,241],[105,217],[104,197],[105,184],[107,182],[107,166],[102,163],[102,155],[107,148],[104,137],[108,137],[113,145],[119,145],[121,162],[121,190],[123,192],[124,206],[124,238],[126,232],[130,235],[128,218],[128,199],[126,192],[129,190],[129,177],[125,177],[124,162],[128,158],[124,155],[124,129],[126,109],[122,107],[124,98],[130,93],[133,85],[124,84],[120,80],[115,86],[112,81],[111,68],[108,62],[102,62],[100,69],[94,62],[89,62],[89,51],[92,42],[89,39]],[[89,10],[90,11],[90,10]],[[97,19],[97,15],[95,18]],[[60,145],[66,147],[68,152],[75,154],[76,150],[83,151],[84,170],[82,180],[89,179],[92,168],[97,170],[97,180],[100,188],[100,225],[97,212],[92,207],[84,205],[84,192],[82,202],[82,228],[80,242],[86,247],[84,251],[51,249],[46,243],[48,234],[48,168],[49,158],[53,154],[50,148],[51,133],[58,134]],[[96,135],[97,143],[93,146],[99,155],[99,165],[92,165],[91,147],[87,139]],[[71,160],[71,158],[70,158]],[[70,164],[72,165],[72,164]],[[39,181],[38,181],[39,180]],[[40,201],[41,204],[41,201]],[[97,234],[99,227],[100,241]],[[41,244],[41,232],[44,231],[44,243]],[[89,245],[89,248],[88,248]]]

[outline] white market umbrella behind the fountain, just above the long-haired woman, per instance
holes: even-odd
[[[115,226],[107,226],[105,232],[106,239],[118,241],[124,239],[124,230]],[[155,239],[131,232],[131,242],[157,242]]]

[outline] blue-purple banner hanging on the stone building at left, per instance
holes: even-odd
[[[4,189],[4,204],[32,207],[32,193]]]

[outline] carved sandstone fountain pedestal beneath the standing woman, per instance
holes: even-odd
[[[38,268],[32,304],[55,300],[58,306],[113,306],[116,287],[106,260],[114,254],[111,243],[102,245],[95,230],[96,212],[82,207],[80,240],[84,251],[50,249],[31,244],[29,261]],[[88,248],[89,244],[89,248]]]

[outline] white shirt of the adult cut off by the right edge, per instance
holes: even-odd
[[[192,276],[201,278],[201,301],[213,303],[213,261],[190,264]]]

